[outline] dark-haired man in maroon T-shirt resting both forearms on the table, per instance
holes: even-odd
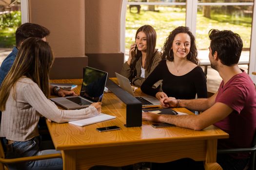
[[[250,148],[256,131],[256,88],[249,75],[237,65],[242,40],[238,34],[227,30],[210,30],[209,37],[211,67],[222,78],[217,93],[209,99],[166,97],[160,101],[163,107],[186,107],[202,113],[197,116],[142,113],[142,117],[194,130],[214,124],[229,134],[228,139],[218,140],[218,148]],[[243,170],[248,160],[247,153],[217,155],[217,163],[223,170]]]

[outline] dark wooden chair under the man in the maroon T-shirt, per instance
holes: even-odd
[[[256,158],[256,132],[254,134],[253,145],[251,148],[236,148],[236,149],[218,149],[217,154],[222,153],[251,153],[249,165],[245,170],[256,170],[255,158]],[[248,168],[248,169],[247,169]]]

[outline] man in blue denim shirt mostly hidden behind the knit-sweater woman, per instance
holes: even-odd
[[[11,69],[22,42],[29,37],[38,37],[46,41],[46,36],[50,34],[50,31],[39,24],[24,23],[20,25],[15,34],[16,47],[14,47],[12,52],[3,60],[0,67],[0,86]],[[57,86],[51,86],[51,94],[56,94],[60,97],[65,97],[66,95],[76,95],[74,91],[63,90]]]

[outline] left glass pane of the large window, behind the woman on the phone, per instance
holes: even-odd
[[[140,7],[140,8],[139,8]],[[135,42],[135,34],[142,25],[151,25],[157,32],[156,48],[160,51],[165,39],[177,26],[185,26],[186,6],[127,5],[125,49],[126,54]],[[138,12],[139,8],[139,12]]]

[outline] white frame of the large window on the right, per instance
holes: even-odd
[[[197,6],[219,6],[219,5],[246,5],[253,6],[253,19],[251,28],[251,44],[250,44],[250,56],[249,56],[249,68],[248,72],[254,83],[256,83],[256,76],[252,74],[256,71],[256,2],[198,2],[198,0],[186,0],[186,2],[128,2],[128,0],[122,1],[121,8],[121,23],[120,23],[120,51],[125,53],[125,19],[127,5],[186,5],[186,20],[185,25],[190,28],[192,34],[196,36],[196,24],[197,24]],[[253,57],[254,56],[254,57]]]

